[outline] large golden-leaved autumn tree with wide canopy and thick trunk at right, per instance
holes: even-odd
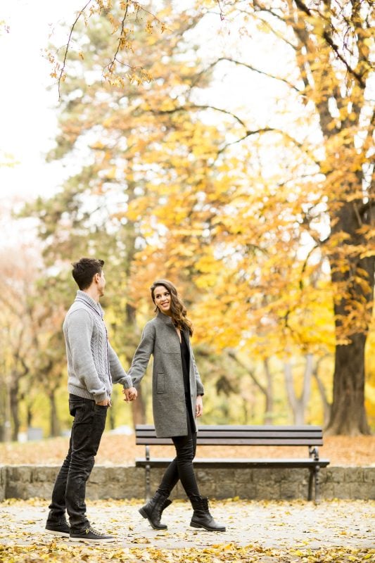
[[[101,11],[107,24],[89,27],[88,49],[71,52],[74,71],[64,68],[56,156],[83,141],[91,160],[47,213],[39,206],[42,229],[51,227],[49,248],[57,248],[51,256],[84,248],[87,236],[96,241],[91,249],[110,241],[123,255],[127,240],[132,303],[162,264],[198,303],[198,339],[235,348],[241,359],[256,352],[263,362],[274,354],[288,362],[295,350],[310,358],[334,348],[329,430],[366,433],[371,5],[209,1],[204,6],[220,8],[234,37],[220,53],[199,50],[209,37],[205,7],[166,8],[157,18],[165,22],[160,37],[151,24],[140,32],[129,20],[131,3],[122,4],[120,15]],[[117,32],[112,43],[109,30]],[[256,59],[269,46],[282,64]],[[111,89],[101,81],[105,60],[116,63]],[[94,82],[80,68],[94,70]],[[142,69],[139,80],[134,68]],[[210,100],[210,85],[218,87],[224,71],[235,77],[231,69],[261,77],[267,115],[251,82],[241,110],[228,96]]]

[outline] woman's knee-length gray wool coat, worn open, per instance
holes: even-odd
[[[203,385],[199,376],[189,331],[181,331],[182,338],[190,350],[190,391],[191,408],[195,417],[196,397],[203,395]],[[144,327],[128,375],[133,386],[138,388],[150,356],[153,354],[153,420],[156,436],[186,436],[186,403],[184,378],[182,376],[181,349],[179,336],[171,317],[158,312],[156,317]]]

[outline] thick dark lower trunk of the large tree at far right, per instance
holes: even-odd
[[[355,189],[355,186],[353,187]],[[336,223],[332,232],[350,234],[350,243],[355,246],[366,244],[360,234],[361,220],[367,224],[373,222],[368,213],[359,215],[362,201],[344,203],[336,213]],[[345,248],[345,243],[343,244]],[[336,344],[335,370],[333,373],[333,403],[331,417],[326,428],[327,434],[358,436],[371,434],[364,407],[364,349],[367,329],[371,319],[371,300],[374,298],[374,257],[360,258],[359,253],[346,258],[346,267],[341,255],[331,257],[331,278],[333,284],[344,286],[343,297],[334,302],[336,334],[338,339],[349,332],[349,343]],[[351,312],[357,312],[357,318],[343,327]],[[354,334],[353,334],[354,333]]]

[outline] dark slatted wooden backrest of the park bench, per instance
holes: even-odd
[[[136,444],[171,444],[151,424],[136,424]],[[198,445],[323,445],[320,426],[199,426]]]

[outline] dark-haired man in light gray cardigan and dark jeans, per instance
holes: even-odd
[[[80,288],[63,323],[68,360],[69,410],[74,417],[68,455],[53,487],[46,531],[72,541],[101,543],[112,536],[91,528],[86,517],[86,482],[94,467],[108,407],[112,383],[122,384],[125,400],[136,398],[136,389],[108,342],[99,298],[106,279],[103,260],[81,258],[72,276]],[[70,526],[65,519],[65,508]]]

